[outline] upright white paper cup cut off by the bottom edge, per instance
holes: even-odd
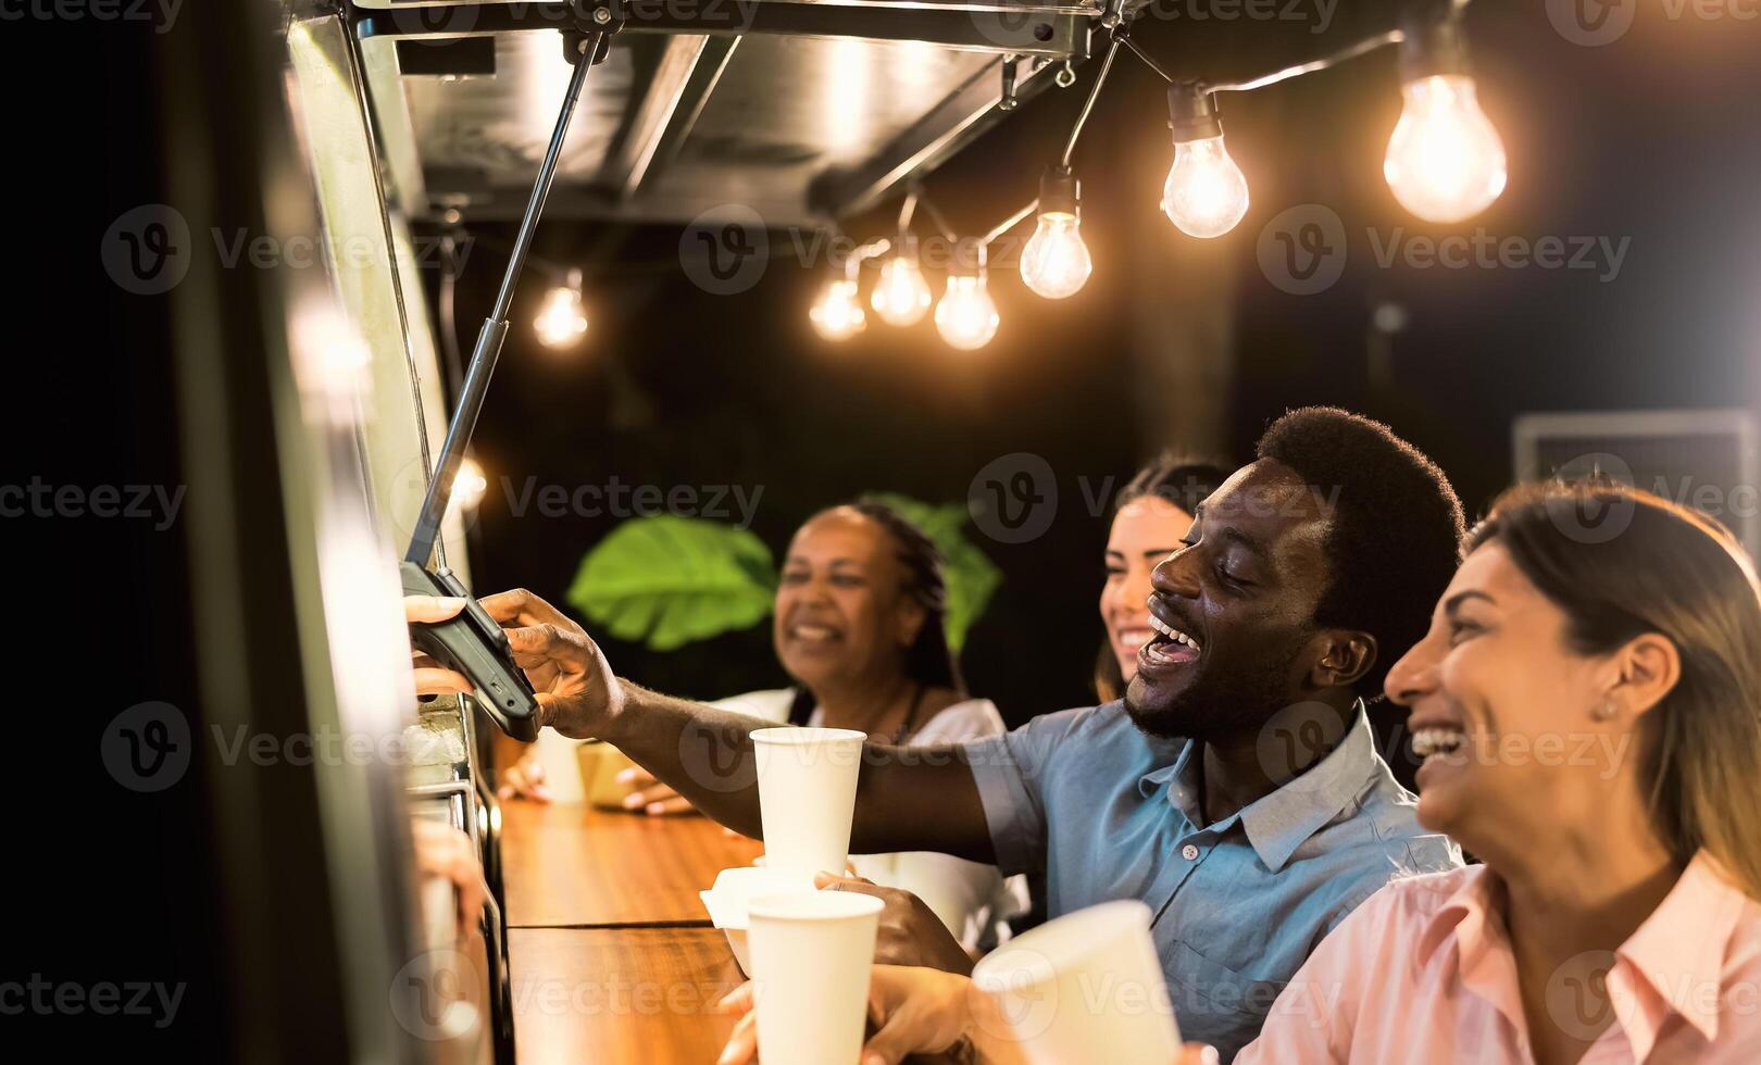
[[[872,894],[849,891],[791,891],[747,903],[764,1065],[861,1060],[880,907]]]

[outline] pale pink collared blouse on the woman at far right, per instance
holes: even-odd
[[[1238,1065],[1532,1061],[1485,866],[1396,880],[1358,907],[1278,995]],[[1606,965],[1606,956],[1604,956]],[[1548,1012],[1590,1039],[1581,1058],[1761,1065],[1761,903],[1699,852],[1662,905],[1615,951],[1606,1000],[1562,966]]]

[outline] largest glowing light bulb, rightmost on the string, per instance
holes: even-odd
[[[1504,143],[1465,74],[1414,77],[1388,139],[1382,176],[1400,206],[1426,222],[1462,222],[1504,192]]]

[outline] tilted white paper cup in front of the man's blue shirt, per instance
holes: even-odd
[[[979,961],[972,984],[995,1007],[979,1014],[986,1033],[1020,1046],[1028,1065],[1168,1065],[1180,1056],[1150,908],[1139,901],[1048,921]]]

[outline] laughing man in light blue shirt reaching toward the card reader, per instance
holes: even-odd
[[[1053,917],[1143,900],[1182,1032],[1233,1056],[1358,903],[1460,864],[1414,820],[1363,699],[1423,635],[1462,532],[1449,482],[1386,426],[1287,414],[1155,569],[1157,637],[1125,699],[940,750],[870,743],[851,850],[1043,873]],[[530,593],[484,606],[511,627],[546,723],[618,745],[759,834],[750,720],[618,679]]]

